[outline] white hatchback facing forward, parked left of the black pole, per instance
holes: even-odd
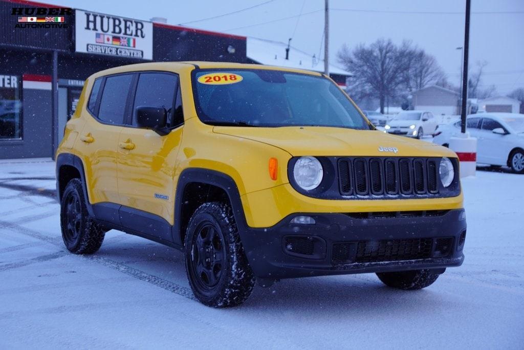
[[[438,125],[436,118],[431,112],[403,111],[395,115],[384,129],[389,134],[422,138],[424,135],[435,134]]]

